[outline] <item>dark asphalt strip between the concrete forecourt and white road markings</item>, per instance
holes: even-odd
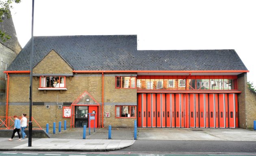
[[[255,153],[256,141],[153,141],[137,140],[118,152]]]

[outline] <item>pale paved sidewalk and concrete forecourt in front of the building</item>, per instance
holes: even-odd
[[[132,128],[113,128],[108,139],[107,128],[87,129],[86,139],[82,139],[82,128],[72,128],[49,132],[50,139],[32,138],[32,147],[28,139],[13,141],[0,138],[0,150],[35,150],[35,151],[110,151],[128,147],[135,143]],[[138,128],[138,140],[197,140],[197,141],[256,141],[256,131],[244,129],[211,129],[211,128]]]

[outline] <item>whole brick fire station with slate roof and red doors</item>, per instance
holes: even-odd
[[[5,71],[6,116],[29,114],[30,48]],[[42,127],[89,126],[93,115],[99,128],[249,128],[256,117],[235,50],[137,50],[136,35],[34,37],[33,49],[32,115]]]

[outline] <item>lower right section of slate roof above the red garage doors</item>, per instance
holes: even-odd
[[[142,50],[141,70],[247,70],[234,50]]]

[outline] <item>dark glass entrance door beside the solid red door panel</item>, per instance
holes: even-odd
[[[88,106],[76,106],[75,127],[88,127]]]

